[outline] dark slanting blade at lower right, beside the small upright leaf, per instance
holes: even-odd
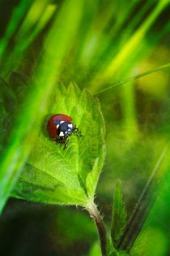
[[[134,207],[134,211],[130,216],[130,220],[125,227],[125,231],[123,232],[120,241],[118,242],[117,248],[130,252],[130,249],[134,245],[134,241],[136,241],[158,195],[159,185],[163,180],[164,173],[168,170],[169,158],[166,158],[168,155],[169,149],[167,145],[160,154],[159,159],[155,164],[155,168],[142,190],[142,194]]]

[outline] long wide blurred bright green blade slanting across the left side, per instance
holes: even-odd
[[[32,149],[41,119],[45,115],[53,83],[62,67],[62,60],[72,46],[71,42],[76,35],[82,11],[83,0],[76,3],[74,0],[65,1],[49,31],[45,41],[43,59],[35,75],[36,84],[35,82],[32,83],[32,89],[28,93],[20,115],[14,124],[9,143],[1,158],[0,212],[19,176],[24,161]]]

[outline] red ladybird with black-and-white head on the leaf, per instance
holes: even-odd
[[[63,143],[66,149],[70,135],[82,136],[79,129],[72,123],[72,118],[65,114],[56,114],[49,117],[47,124],[49,136],[57,143]]]

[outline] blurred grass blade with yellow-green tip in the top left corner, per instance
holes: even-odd
[[[8,76],[9,72],[11,72],[12,62],[15,62],[15,70],[21,63],[24,63],[24,56],[29,50],[28,46],[45,28],[46,23],[53,15],[55,7],[54,5],[48,5],[48,0],[32,2],[28,14],[24,17],[23,24],[15,34],[13,50],[6,54],[8,61],[3,64],[2,76]]]

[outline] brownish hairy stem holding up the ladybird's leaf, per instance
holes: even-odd
[[[88,202],[86,209],[88,210],[91,218],[94,219],[96,223],[96,228],[100,238],[100,247],[102,256],[107,255],[107,233],[106,228],[104,226],[103,219],[100,215],[99,210],[97,210],[97,206],[94,202]]]

